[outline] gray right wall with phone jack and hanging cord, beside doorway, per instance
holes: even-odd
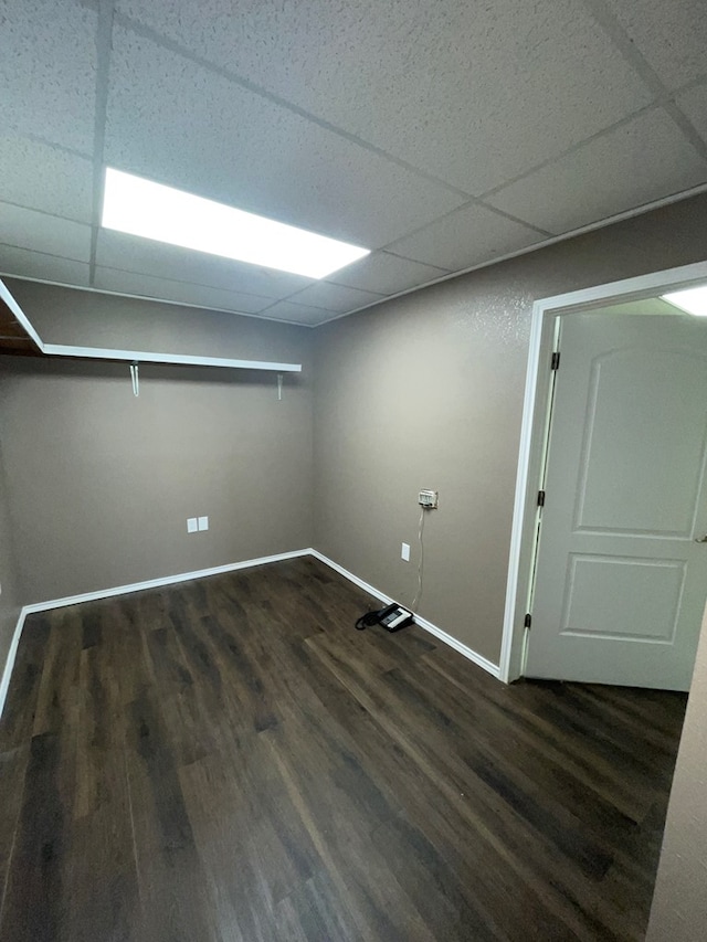
[[[315,546],[494,663],[532,303],[707,258],[707,198],[408,295],[315,331]]]

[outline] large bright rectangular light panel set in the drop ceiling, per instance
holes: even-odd
[[[102,225],[308,278],[333,272],[370,250],[317,235],[183,190],[106,168]]]

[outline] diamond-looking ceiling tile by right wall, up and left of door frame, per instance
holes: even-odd
[[[485,207],[456,210],[390,248],[409,258],[458,271],[540,242],[544,236]]]

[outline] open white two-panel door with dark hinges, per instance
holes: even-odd
[[[562,318],[526,676],[689,688],[706,457],[706,320]]]

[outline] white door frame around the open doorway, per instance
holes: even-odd
[[[532,305],[499,664],[499,677],[506,684],[521,677],[525,669],[528,629],[524,623],[529,611],[538,520],[537,495],[549,431],[555,319],[559,314],[571,315],[600,306],[653,298],[667,290],[679,290],[703,282],[707,282],[707,261],[540,298]]]

